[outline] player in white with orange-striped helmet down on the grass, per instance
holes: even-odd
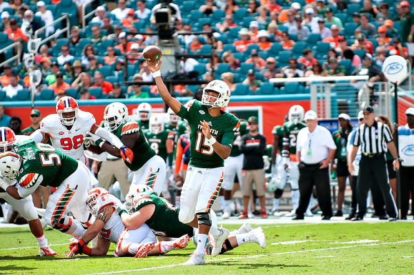
[[[188,235],[184,234],[175,241],[157,243],[155,234],[145,223],[134,230],[126,229],[119,215],[114,213],[123,210],[124,206],[115,196],[112,196],[101,187],[90,190],[86,207],[96,217],[96,220],[86,230],[82,238],[70,243],[71,252],[68,256],[75,254],[103,256],[108,253],[110,243],[116,243],[115,257],[135,256],[135,258],[144,258],[165,254],[176,248],[184,248],[190,240]],[[97,247],[88,247],[87,244],[95,236],[99,236]]]

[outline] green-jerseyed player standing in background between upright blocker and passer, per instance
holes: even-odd
[[[163,185],[162,195],[168,201],[171,201],[170,192],[168,192],[168,179],[172,173],[174,133],[164,129],[162,114],[152,114],[150,117],[150,129],[145,130],[144,134],[152,150],[167,163],[166,181]]]

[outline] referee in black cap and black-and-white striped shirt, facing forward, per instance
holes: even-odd
[[[366,212],[366,196],[371,184],[377,184],[385,200],[386,212],[389,221],[397,220],[397,206],[391,193],[388,182],[388,172],[386,167],[385,153],[388,150],[393,155],[394,170],[400,168],[397,148],[393,142],[393,136],[387,125],[375,121],[374,108],[365,106],[365,123],[357,128],[351,154],[348,159],[348,170],[353,174],[353,161],[359,145],[361,145],[361,161],[359,162],[359,175],[357,180],[357,203],[358,214],[352,221],[361,221]]]

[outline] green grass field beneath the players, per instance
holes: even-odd
[[[226,225],[230,230],[238,225]],[[253,225],[257,227],[257,225]],[[195,248],[148,258],[66,258],[68,235],[46,230],[55,257],[37,256],[26,228],[1,229],[0,274],[413,274],[413,223],[319,223],[264,225],[267,248],[242,245],[206,256],[206,265],[183,267]],[[62,245],[64,244],[64,245]]]

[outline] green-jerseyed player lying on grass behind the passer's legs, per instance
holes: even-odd
[[[194,227],[181,223],[178,218],[179,208],[171,205],[165,198],[157,196],[150,187],[140,185],[137,192],[131,192],[126,196],[125,204],[130,214],[123,211],[120,213],[126,228],[133,230],[146,223],[158,236],[174,238],[188,234],[188,236],[194,236],[193,240],[197,241],[197,217],[192,222]],[[217,216],[213,211],[211,214],[213,226],[217,226]],[[206,254],[208,255],[213,253],[214,240],[215,238],[209,234],[206,241]],[[266,237],[262,227],[253,230],[250,225],[244,224],[239,230],[230,232],[230,236],[220,246],[218,254],[223,254],[244,243],[257,243],[265,248]]]

